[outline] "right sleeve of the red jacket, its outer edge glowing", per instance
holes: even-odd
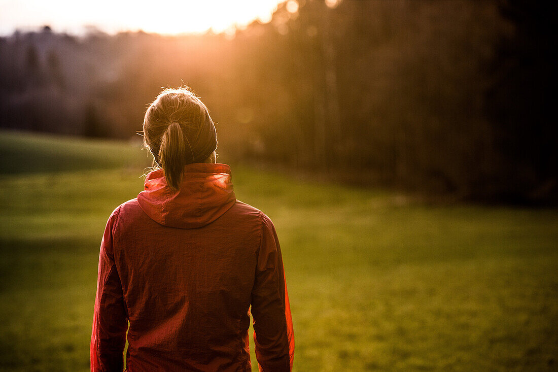
[[[287,284],[277,233],[267,216],[262,222],[251,312],[259,370],[292,370],[295,340]]]

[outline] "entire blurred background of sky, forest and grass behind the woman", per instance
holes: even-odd
[[[88,369],[104,223],[182,85],[276,223],[297,371],[557,369],[555,5],[0,7],[1,370]]]

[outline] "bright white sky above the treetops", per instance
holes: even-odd
[[[181,34],[240,28],[271,20],[284,0],[0,0],[0,34],[38,30],[83,34],[86,27],[119,31]]]

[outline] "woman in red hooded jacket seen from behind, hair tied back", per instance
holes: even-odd
[[[273,223],[237,201],[215,164],[208,109],[165,89],[143,122],[160,169],[114,209],[100,247],[92,371],[249,371],[249,307],[260,370],[292,369],[294,338]],[[129,322],[129,328],[128,328]]]

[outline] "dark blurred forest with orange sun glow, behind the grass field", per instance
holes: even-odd
[[[146,104],[187,85],[219,161],[484,203],[558,202],[556,6],[281,3],[224,34],[0,37],[0,127],[141,141]]]

